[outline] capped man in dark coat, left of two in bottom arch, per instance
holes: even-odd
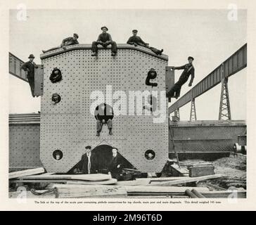
[[[91,146],[85,147],[85,153],[77,166],[75,173],[96,174],[98,172],[98,161],[96,155],[91,151]]]

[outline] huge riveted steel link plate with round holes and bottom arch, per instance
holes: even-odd
[[[101,135],[96,136],[96,119],[90,113],[95,101],[91,98],[93,91],[103,91],[105,95],[107,85],[111,85],[112,94],[122,91],[127,99],[121,98],[120,103],[127,105],[127,110],[131,104],[129,91],[165,92],[167,56],[156,56],[151,50],[127,44],[118,44],[117,48],[115,57],[110,56],[110,49],[102,48],[98,57],[92,57],[90,44],[68,46],[66,51],[58,49],[41,55],[44,96],[41,98],[40,157],[47,172],[68,172],[79,162],[88,145],[118,148],[141,172],[160,172],[164,167],[168,157],[167,98],[165,122],[153,123],[153,115],[117,115],[114,108],[113,135],[109,135],[108,127],[103,125]],[[53,84],[49,76],[56,67],[61,70],[63,80]],[[145,84],[151,68],[158,73],[155,79],[158,86],[153,89]],[[54,93],[61,96],[58,104],[51,103]],[[52,156],[56,149],[63,152],[63,158],[58,161]],[[148,149],[155,151],[153,160],[145,158]]]

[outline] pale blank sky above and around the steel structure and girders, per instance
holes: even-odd
[[[108,27],[117,44],[126,43],[132,30],[169,56],[168,65],[184,65],[195,58],[193,85],[217,68],[247,42],[246,11],[238,11],[238,20],[228,20],[228,10],[29,10],[27,20],[17,20],[16,10],[9,16],[9,51],[27,61],[30,53],[40,64],[42,49],[58,46],[75,32],[80,44],[91,44]],[[246,120],[246,68],[229,79],[232,120]],[[175,80],[181,70],[175,71]],[[181,96],[189,91],[188,82]],[[198,120],[218,120],[221,86],[196,98]],[[172,98],[172,103],[174,103]],[[189,120],[190,103],[180,108],[181,120]],[[37,113],[40,97],[32,98],[30,87],[9,76],[9,113]]]

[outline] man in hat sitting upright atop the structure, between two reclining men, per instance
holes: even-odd
[[[117,54],[117,44],[112,40],[110,34],[107,33],[108,27],[101,27],[102,33],[98,35],[97,41],[92,42],[91,44],[91,56],[98,55],[98,44],[106,48],[108,45],[111,45],[111,56]]]

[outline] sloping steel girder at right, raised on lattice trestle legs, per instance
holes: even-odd
[[[222,64],[224,65],[224,73],[222,73]],[[181,106],[189,103],[191,99],[197,98],[201,94],[212,89],[222,82],[224,77],[230,77],[245,68],[247,66],[247,44],[242,46],[241,49],[238,49],[238,51],[233,53],[233,55],[227,58],[222,64],[172,104],[169,107],[169,113],[173,113],[177,108],[181,108]]]

